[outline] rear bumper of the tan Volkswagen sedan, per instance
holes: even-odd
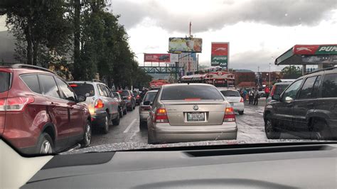
[[[171,126],[168,123],[152,124],[152,126],[154,128],[149,127],[149,141],[153,143],[237,139],[235,122],[205,126]]]

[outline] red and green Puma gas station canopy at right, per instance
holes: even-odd
[[[275,65],[337,65],[337,44],[294,45],[275,60]]]

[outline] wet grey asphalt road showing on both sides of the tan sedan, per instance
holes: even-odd
[[[245,102],[245,113],[236,114],[237,140],[264,140],[264,110],[265,98],[261,98],[258,106]],[[120,120],[119,126],[110,126],[108,134],[102,134],[99,129],[93,129],[91,146],[102,144],[136,142],[147,143],[147,130],[139,129],[139,106],[132,112],[127,112]]]

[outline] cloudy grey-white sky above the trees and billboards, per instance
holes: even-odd
[[[109,1],[137,53],[166,53],[169,37],[203,38],[201,65],[210,65],[210,43],[230,42],[230,68],[269,70],[269,63],[295,44],[337,43],[336,0]],[[272,70],[281,67],[272,65]]]

